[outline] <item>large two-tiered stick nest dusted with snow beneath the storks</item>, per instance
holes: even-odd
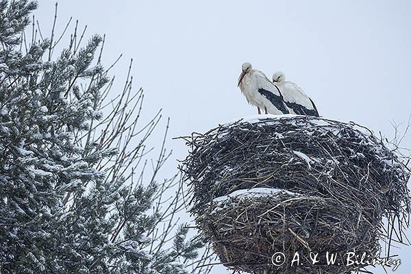
[[[388,245],[393,235],[402,240],[410,173],[379,138],[353,123],[261,117],[185,138],[190,153],[180,169],[190,212],[225,266],[345,273],[364,266],[347,266],[347,251],[372,258],[379,256],[380,239]],[[265,192],[247,192],[256,188]],[[326,251],[338,254],[335,264],[323,260]],[[282,266],[272,262],[276,252],[285,255]],[[303,265],[290,266],[295,252]],[[310,252],[321,261],[310,264]]]

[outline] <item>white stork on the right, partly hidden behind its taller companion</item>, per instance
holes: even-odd
[[[295,114],[319,116],[314,102],[303,90],[292,82],[286,82],[286,75],[281,71],[273,74],[273,83],[283,95],[284,103]]]

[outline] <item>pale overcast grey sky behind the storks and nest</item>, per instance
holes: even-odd
[[[35,14],[47,36],[55,0],[39,3]],[[236,87],[249,61],[270,78],[283,71],[328,119],[356,121],[389,138],[390,121],[411,114],[410,14],[411,1],[62,0],[57,29],[73,16],[88,25],[88,36],[106,34],[105,64],[124,55],[114,70],[119,84],[134,58],[146,115],[163,108],[171,137],[256,114]],[[165,173],[172,174],[186,147],[181,140],[168,147],[174,154]],[[395,273],[408,273],[411,247],[393,253],[402,260]]]

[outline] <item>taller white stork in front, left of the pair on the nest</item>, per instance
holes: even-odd
[[[242,64],[242,72],[238,77],[238,86],[251,105],[255,105],[258,114],[260,108],[265,113],[288,114],[290,113],[284,104],[281,92],[271,83],[262,71],[253,69],[249,62]]]

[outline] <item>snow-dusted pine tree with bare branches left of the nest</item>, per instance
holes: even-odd
[[[58,58],[54,34],[33,24],[27,41],[36,6],[0,1],[0,273],[191,273],[201,243],[175,227],[181,193],[162,201],[174,180],[155,179],[164,140],[143,173],[160,115],[138,123],[142,90],[129,76],[107,99],[101,36],[81,47],[76,24]]]

